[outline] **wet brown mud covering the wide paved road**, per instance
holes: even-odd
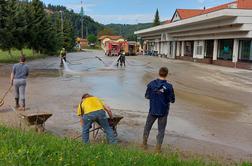
[[[56,57],[29,62],[29,111],[53,113],[46,128],[57,135],[78,135],[76,106],[81,95],[89,92],[124,116],[118,126],[119,139],[140,144],[148,113],[146,84],[157,77],[161,66],[167,66],[177,98],[171,106],[164,147],[252,160],[252,71],[147,56],[127,57],[126,68],[108,68],[115,59],[101,51],[69,54],[68,67],[75,73],[61,69]],[[11,65],[0,65],[0,94],[9,85],[10,70]],[[13,91],[5,103],[0,122],[14,125],[14,114],[4,111],[14,104]],[[155,145],[157,126],[153,129],[150,144]]]

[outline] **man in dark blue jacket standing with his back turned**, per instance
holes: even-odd
[[[158,153],[161,152],[170,103],[175,102],[173,86],[166,80],[167,76],[168,69],[166,67],[161,67],[159,69],[159,78],[151,81],[147,85],[147,90],[145,93],[145,98],[149,99],[150,109],[144,127],[143,147],[147,149],[150,130],[154,122],[158,119],[158,135],[156,145],[156,152]]]

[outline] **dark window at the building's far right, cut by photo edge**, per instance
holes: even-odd
[[[239,60],[252,62],[252,41],[241,40],[239,50]]]

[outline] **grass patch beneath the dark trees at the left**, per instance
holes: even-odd
[[[26,55],[27,60],[34,60],[39,58],[44,58],[46,55],[42,54],[35,54],[32,55],[32,50],[30,49],[23,49],[23,53]],[[8,51],[0,50],[0,63],[17,63],[20,57],[19,50],[11,50],[12,56],[9,55]]]

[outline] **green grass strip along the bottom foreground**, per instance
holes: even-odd
[[[178,154],[157,155],[140,150],[106,144],[84,145],[82,142],[49,134],[22,132],[0,126],[0,165],[219,165],[199,159],[182,160]],[[251,166],[244,163],[242,166]]]

